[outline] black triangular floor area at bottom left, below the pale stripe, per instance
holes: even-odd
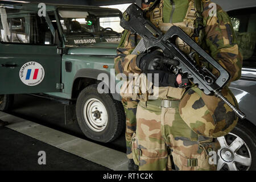
[[[6,127],[0,128],[0,138],[0,170],[110,170]],[[38,164],[42,150],[46,165]]]

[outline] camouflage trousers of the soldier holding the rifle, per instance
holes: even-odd
[[[220,148],[213,138],[197,135],[181,119],[179,101],[161,107],[161,100],[139,102],[133,159],[139,170],[216,170],[209,151]]]

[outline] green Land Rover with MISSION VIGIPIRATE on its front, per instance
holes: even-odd
[[[114,76],[121,11],[0,3],[0,15],[0,110],[10,109],[14,94],[47,97],[65,104],[65,122],[77,120],[86,137],[116,139],[125,126],[121,97],[98,93],[97,78]]]

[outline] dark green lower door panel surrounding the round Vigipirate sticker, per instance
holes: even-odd
[[[1,44],[0,64],[16,64],[16,67],[0,66],[0,94],[59,92],[56,83],[61,81],[61,69],[57,69],[61,67],[61,56],[56,49],[56,46]],[[43,81],[36,86],[27,86],[19,78],[22,65],[31,61],[40,63],[45,71]]]

